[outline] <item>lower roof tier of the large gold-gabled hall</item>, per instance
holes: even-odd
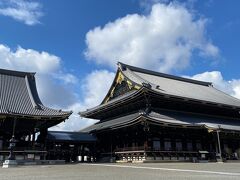
[[[162,110],[159,112],[150,112],[149,114],[133,113],[130,115],[118,117],[105,122],[98,122],[91,125],[81,132],[94,132],[107,129],[121,128],[129,124],[136,124],[141,119],[147,119],[149,122],[159,125],[198,127],[208,129],[224,129],[240,131],[239,119],[228,119],[224,117],[205,116],[200,114],[175,112]]]

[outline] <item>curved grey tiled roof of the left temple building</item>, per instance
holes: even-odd
[[[71,112],[54,110],[42,104],[34,75],[0,69],[0,114],[68,117]]]

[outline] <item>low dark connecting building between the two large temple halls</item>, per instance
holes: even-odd
[[[96,161],[96,137],[83,132],[48,131],[45,140],[46,159],[65,162]],[[38,137],[41,142],[41,136]]]

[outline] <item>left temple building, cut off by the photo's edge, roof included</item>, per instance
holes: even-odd
[[[17,159],[44,159],[47,129],[71,113],[42,104],[35,73],[0,69],[0,161],[8,158],[9,151]],[[43,137],[40,143],[35,141],[36,133]]]

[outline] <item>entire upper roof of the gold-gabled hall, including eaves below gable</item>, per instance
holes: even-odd
[[[210,82],[197,81],[193,79],[149,71],[123,63],[118,63],[118,72],[119,71],[127,80],[131,81],[132,84],[138,85],[140,88],[138,90],[134,90],[113,98],[106,103],[103,102],[99,106],[80,112],[79,114],[82,117],[94,118],[92,116],[93,114],[99,113],[100,111],[121,102],[126,102],[127,100],[132,99],[134,96],[139,95],[142,90],[147,90],[149,92],[171,96],[174,98],[192,100],[194,102],[203,104],[221,105],[228,108],[240,109],[239,99],[214,88]],[[109,92],[111,92],[112,88],[113,87],[110,88]]]

